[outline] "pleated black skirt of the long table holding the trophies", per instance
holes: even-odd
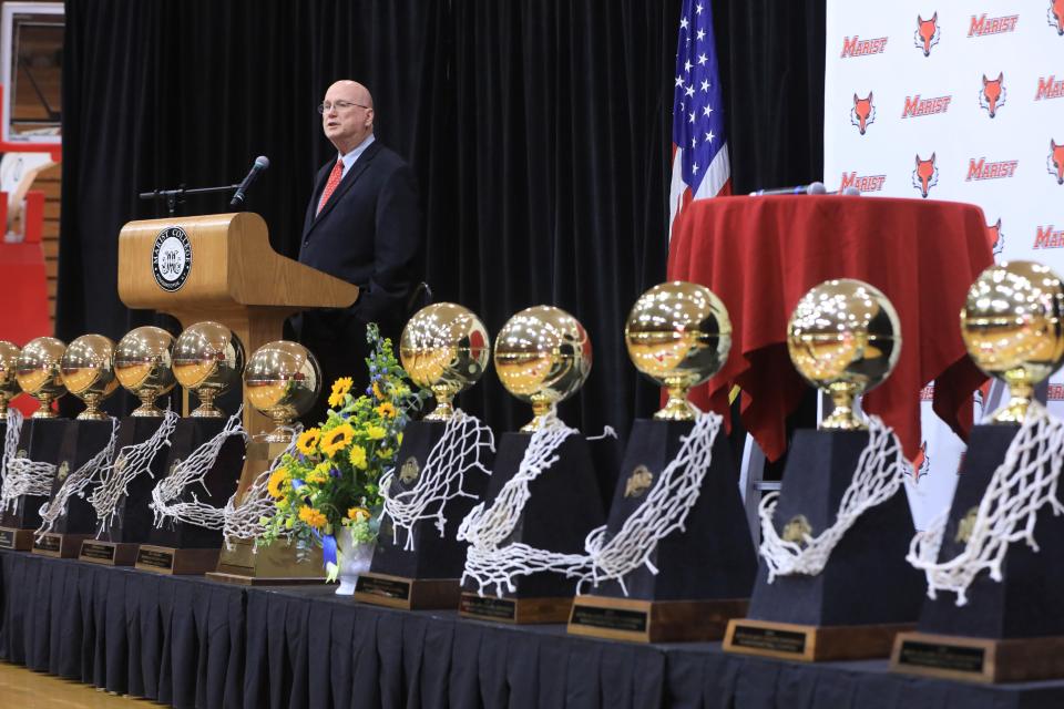
[[[892,675],[886,660],[594,640],[356,605],[329,587],[243,588],[18,552],[0,552],[0,658],[175,707],[1064,707],[1064,681],[980,686]]]

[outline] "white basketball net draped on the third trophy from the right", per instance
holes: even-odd
[[[584,543],[591,558],[591,572],[581,586],[615,579],[624,595],[628,589],[624,577],[641,565],[652,574],[657,568],[651,555],[657,543],[676,530],[683,531],[687,514],[698,502],[702,483],[713,462],[713,444],[724,419],[716,413],[699,413],[690,433],[681,439],[676,458],[669,461],[658,476],[654,489],[624,521],[612,538],[606,538],[606,526],[597,527]]]

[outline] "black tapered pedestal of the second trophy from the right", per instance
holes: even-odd
[[[773,523],[787,540],[818,536],[835,524],[842,495],[868,444],[867,431],[798,431]],[[811,626],[911,626],[920,615],[923,574],[906,562],[913,535],[904,491],[871,507],[839,541],[816,575],[777,576],[764,562],[750,597],[750,620]],[[857,651],[857,650],[855,650]],[[890,653],[890,644],[882,656]],[[867,657],[863,650],[852,657]]]

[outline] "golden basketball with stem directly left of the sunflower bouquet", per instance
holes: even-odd
[[[283,429],[306,413],[321,393],[321,368],[314,354],[298,342],[267,342],[248,358],[244,369],[247,400],[274,422],[263,440],[287,443]]]

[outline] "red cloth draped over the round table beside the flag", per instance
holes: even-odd
[[[727,415],[733,384],[743,422],[770,459],[786,449],[785,418],[805,383],[787,354],[787,321],[807,290],[858,278],[886,294],[901,320],[901,357],[863,407],[892,427],[906,454],[920,448],[920,390],[962,438],[971,393],[985,380],[961,340],[959,312],[993,263],[974,205],[843,196],[718,197],[692,203],[673,232],[669,279],[703,284],[732,316],[732,354],[692,401]]]

